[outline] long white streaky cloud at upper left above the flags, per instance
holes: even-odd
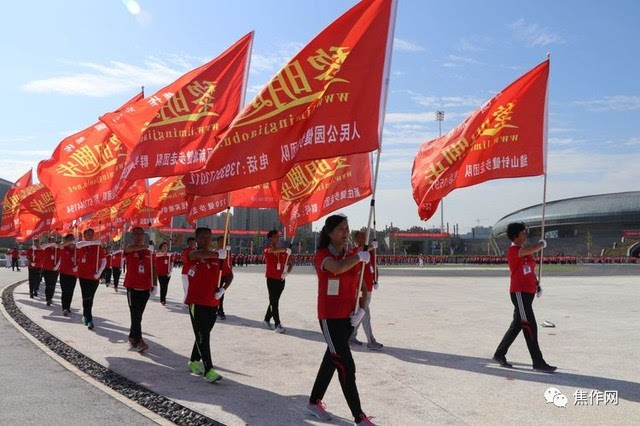
[[[22,88],[34,93],[106,97],[131,93],[142,85],[166,85],[188,69],[200,64],[193,64],[185,57],[172,55],[167,61],[149,57],[143,65],[119,61],[111,61],[106,65],[94,62],[80,62],[75,65],[84,71],[32,80]]]

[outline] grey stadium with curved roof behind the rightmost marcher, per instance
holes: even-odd
[[[526,223],[529,241],[538,241],[542,204],[510,213],[493,226],[497,248],[503,253],[510,244],[506,231],[511,222]],[[547,202],[545,239],[549,255],[640,256],[640,191]]]

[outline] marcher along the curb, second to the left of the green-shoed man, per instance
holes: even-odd
[[[93,299],[100,284],[102,271],[107,266],[107,259],[100,241],[94,241],[93,229],[85,230],[82,237],[84,241],[76,243],[77,276],[82,292],[82,323],[89,330],[93,330]]]

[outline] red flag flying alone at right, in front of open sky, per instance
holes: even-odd
[[[447,135],[420,147],[411,186],[422,220],[456,188],[545,172],[548,78],[546,60]]]

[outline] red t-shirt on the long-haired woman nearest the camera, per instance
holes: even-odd
[[[315,266],[318,275],[318,319],[349,318],[356,305],[356,289],[360,276],[358,265],[335,275],[322,269],[326,258],[341,260],[349,257],[348,251],[334,254],[329,247],[316,252]]]

